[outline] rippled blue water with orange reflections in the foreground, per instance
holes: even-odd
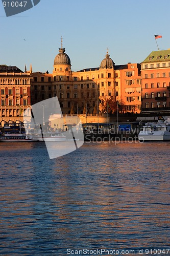
[[[1,255],[170,255],[170,142],[85,143],[53,160],[43,142],[0,146]]]

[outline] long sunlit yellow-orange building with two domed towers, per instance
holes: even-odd
[[[98,105],[101,112],[107,111],[103,107],[106,102],[118,101],[124,105],[124,112],[140,113],[140,65],[116,66],[108,52],[100,67],[72,72],[70,58],[61,45],[54,59],[53,74],[36,72],[32,76],[31,104],[57,96],[63,114],[82,114],[93,113]],[[135,81],[133,87],[128,85],[133,90],[126,90],[127,79]]]

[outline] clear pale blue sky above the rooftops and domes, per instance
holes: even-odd
[[[41,0],[6,17],[0,2],[0,65],[52,73],[61,36],[72,71],[99,67],[107,48],[115,65],[140,63],[158,50],[154,35],[170,48],[169,9],[169,0]]]

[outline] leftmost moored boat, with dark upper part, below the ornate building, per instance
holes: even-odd
[[[2,142],[33,142],[33,137],[27,136],[26,134],[3,134],[0,137]]]

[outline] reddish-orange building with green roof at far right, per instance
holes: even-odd
[[[170,49],[141,63],[142,113],[170,113]]]

